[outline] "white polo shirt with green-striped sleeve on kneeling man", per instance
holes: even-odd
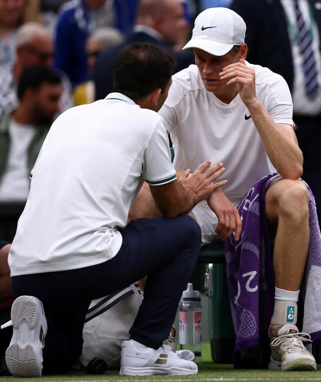
[[[119,93],[65,111],[32,170],[8,259],[11,276],[113,258],[143,182],[161,185],[175,178],[158,113]]]

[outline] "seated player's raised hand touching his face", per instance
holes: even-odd
[[[255,72],[245,64],[243,58],[224,67],[219,75],[221,80],[228,80],[226,85],[237,84],[239,95],[246,105],[256,101]]]

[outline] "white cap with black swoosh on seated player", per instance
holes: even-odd
[[[246,25],[234,10],[224,7],[207,8],[195,19],[192,38],[183,47],[199,48],[223,56],[234,45],[241,45],[245,38]]]

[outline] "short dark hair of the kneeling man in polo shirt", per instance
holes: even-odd
[[[116,57],[113,92],[125,94],[135,102],[156,89],[163,93],[175,64],[174,55],[158,45],[147,42],[129,45]]]

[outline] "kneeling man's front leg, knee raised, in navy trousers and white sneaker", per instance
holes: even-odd
[[[197,366],[179,359],[163,341],[199,253],[199,226],[187,215],[139,219],[122,234],[125,245],[115,257],[112,283],[121,278],[118,269],[127,283],[144,274],[148,278],[130,340],[122,346],[121,375],[195,374]]]

